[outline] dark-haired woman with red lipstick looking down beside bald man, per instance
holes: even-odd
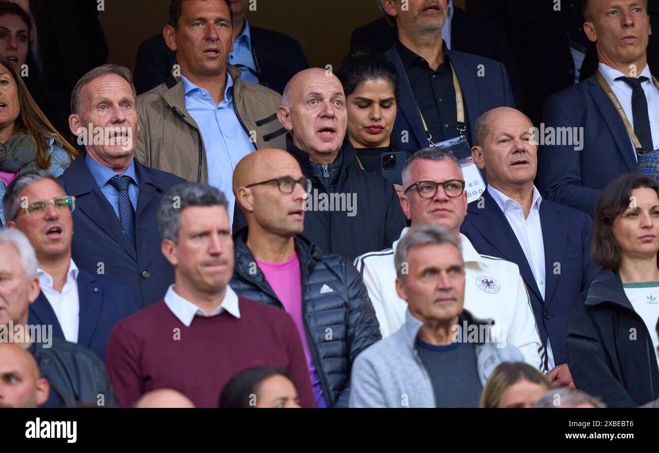
[[[396,119],[396,68],[384,55],[358,50],[343,59],[336,76],[346,97],[348,138],[364,170],[380,174],[380,156],[395,151],[389,136]]]

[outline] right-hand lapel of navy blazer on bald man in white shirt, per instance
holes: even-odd
[[[552,295],[560,268],[556,263],[562,265],[565,257],[565,245],[567,244],[567,225],[561,221],[559,213],[561,208],[542,201],[540,203],[540,225],[542,226],[542,243],[544,244],[544,300],[545,307],[552,302]],[[554,270],[556,269],[556,271]]]

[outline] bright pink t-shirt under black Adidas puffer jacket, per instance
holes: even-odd
[[[304,321],[302,321],[302,278],[300,274],[300,260],[297,253],[294,251],[293,255],[283,263],[266,263],[256,259],[259,269],[272,286],[272,290],[277,295],[279,302],[284,306],[300,334],[302,346],[304,347],[304,355],[306,356],[306,364],[309,368],[309,375],[311,377],[311,385],[314,387],[314,396],[316,396],[316,407],[325,408],[327,404],[323,398],[323,389],[320,385],[318,373],[314,366],[314,360],[311,356],[309,343],[306,340],[306,332],[304,331]]]

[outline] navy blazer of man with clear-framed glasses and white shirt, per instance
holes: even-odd
[[[78,344],[90,348],[105,363],[107,338],[117,321],[132,315],[137,306],[128,286],[114,280],[78,269],[78,298],[80,324]],[[53,307],[43,292],[30,304],[30,325],[52,325],[53,336],[64,338],[64,333]]]

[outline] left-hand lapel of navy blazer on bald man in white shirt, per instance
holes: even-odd
[[[510,227],[508,219],[505,218],[490,192],[485,191],[483,197],[484,207],[482,209],[478,208],[478,201],[469,204],[469,213],[476,214],[471,218],[472,225],[505,259],[517,264],[519,273],[527,286],[540,300],[543,300],[540,289],[538,289],[538,285],[533,278],[527,256],[524,254],[522,246],[519,245],[517,236],[515,236],[513,228]]]

